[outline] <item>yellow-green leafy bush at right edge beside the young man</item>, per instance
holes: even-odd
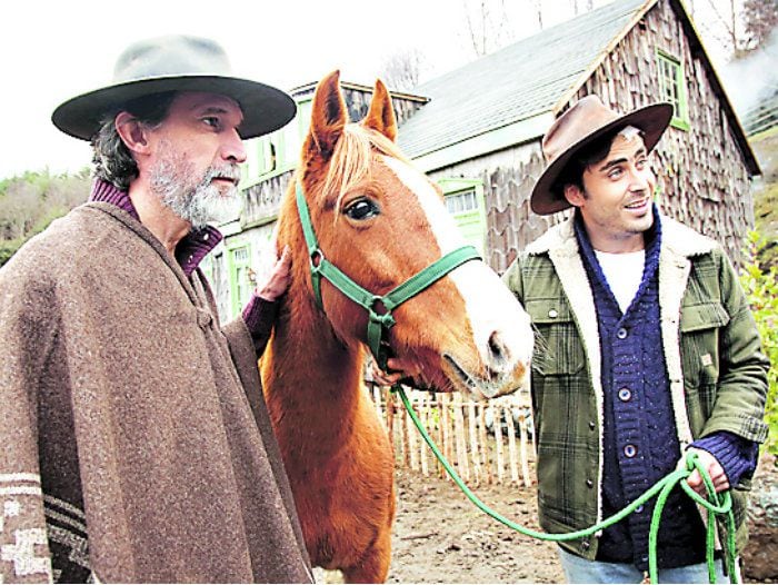
[[[740,275],[740,284],[746,290],[754,318],[759,328],[765,354],[772,365],[768,371],[767,410],[765,422],[770,427],[767,449],[778,455],[778,267],[762,270],[757,261],[760,249],[765,247],[757,232],[749,234],[750,264]]]

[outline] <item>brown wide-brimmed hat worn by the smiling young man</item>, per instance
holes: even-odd
[[[542,151],[548,166],[532,189],[532,211],[546,216],[570,207],[557,180],[570,159],[586,146],[608,132],[634,126],[642,131],[650,152],[671,119],[671,103],[654,103],[622,115],[605,106],[597,96],[581,98],[543,136]]]

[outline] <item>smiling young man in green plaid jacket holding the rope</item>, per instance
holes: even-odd
[[[740,488],[767,436],[768,363],[725,254],[654,204],[649,153],[671,115],[655,105],[620,116],[589,96],[543,138],[532,209],[575,212],[505,275],[545,347],[531,374],[540,523],[552,533],[594,525],[694,449],[717,490],[734,488],[742,546]],[[697,472],[689,484],[705,493]],[[562,544],[568,581],[641,582],[652,507]],[[660,581],[707,582],[691,498],[676,489],[662,518]]]

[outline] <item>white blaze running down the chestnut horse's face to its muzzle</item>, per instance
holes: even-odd
[[[419,198],[441,256],[468,244],[435,188],[421,172],[391,157],[383,157],[383,162]],[[500,380],[510,383],[519,365],[523,367],[522,383],[526,384],[532,356],[533,334],[529,316],[521,305],[497,274],[482,261],[465,262],[452,270],[449,277],[465,300],[473,345],[487,366],[491,381],[495,383],[479,384],[477,391],[486,397],[512,391],[516,387],[503,387]],[[451,357],[457,359],[457,356]]]

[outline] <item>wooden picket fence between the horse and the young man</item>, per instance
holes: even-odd
[[[368,386],[368,393],[392,438],[396,464],[425,476],[448,478],[399,396],[379,386]],[[511,415],[515,405],[470,401],[458,393],[430,394],[406,389],[406,394],[427,433],[468,485],[497,483],[529,487],[535,483],[535,467],[530,466],[535,462],[533,434],[528,432],[531,422],[519,415],[517,437]],[[493,424],[492,433],[487,430],[489,409],[491,420],[496,423],[505,414],[506,429],[501,424]]]

